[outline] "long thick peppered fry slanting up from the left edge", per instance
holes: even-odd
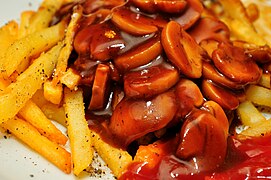
[[[18,76],[16,82],[5,88],[0,95],[0,122],[13,118],[52,75],[61,48],[62,44],[58,44],[41,55]]]

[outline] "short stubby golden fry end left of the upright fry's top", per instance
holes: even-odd
[[[63,97],[62,84],[54,85],[52,81],[46,81],[43,85],[44,97],[53,104],[60,104]]]

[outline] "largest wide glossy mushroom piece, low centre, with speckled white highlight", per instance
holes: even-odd
[[[173,91],[151,100],[124,98],[110,119],[110,132],[127,147],[132,141],[165,127],[177,110]]]

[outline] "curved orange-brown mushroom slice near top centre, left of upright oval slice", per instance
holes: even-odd
[[[145,20],[145,23],[141,22]],[[158,30],[155,25],[152,25],[153,19],[143,14],[130,11],[126,7],[115,8],[112,12],[112,22],[121,30],[133,35],[147,35]],[[146,23],[149,21],[149,23]]]

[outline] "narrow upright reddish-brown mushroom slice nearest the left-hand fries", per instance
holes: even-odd
[[[105,64],[99,64],[95,72],[95,78],[92,85],[92,94],[89,110],[102,109],[106,104],[108,91],[108,82],[110,76],[110,68]]]

